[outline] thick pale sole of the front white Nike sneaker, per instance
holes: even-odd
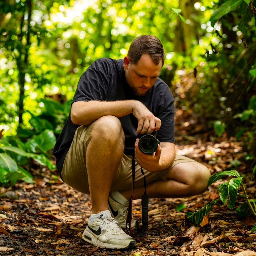
[[[122,250],[131,250],[136,248],[136,242],[130,241],[129,245],[126,247],[123,247],[123,245],[112,245],[107,244],[99,241],[96,237],[94,237],[91,233],[89,233],[87,230],[84,230],[82,239],[86,241],[89,244],[95,245],[100,248],[107,248],[107,249],[122,249]]]

